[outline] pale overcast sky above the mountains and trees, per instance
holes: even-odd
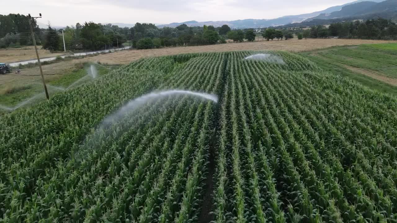
[[[38,15],[53,26],[77,22],[166,24],[183,21],[272,19],[324,10],[353,0],[4,0],[2,13]]]

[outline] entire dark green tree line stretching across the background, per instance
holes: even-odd
[[[40,29],[36,21],[32,23],[36,42],[44,49],[63,51],[63,39],[60,30],[48,24],[47,29]],[[129,46],[137,49],[161,48],[168,46],[198,46],[225,43],[226,38],[233,42],[254,41],[262,35],[266,40],[302,38],[364,38],[397,39],[397,26],[394,22],[377,18],[366,21],[345,21],[330,25],[316,25],[276,29],[268,27],[263,30],[231,30],[228,25],[214,27],[189,27],[186,24],[158,28],[152,23],[136,23],[134,27],[118,27],[112,24],[94,22],[77,23],[63,29],[67,50],[102,50],[114,48],[129,41]],[[33,44],[29,20],[25,15],[0,15],[0,48],[25,46]]]

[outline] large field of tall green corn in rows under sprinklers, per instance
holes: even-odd
[[[397,99],[252,54],[141,59],[1,115],[0,222],[397,222]],[[98,127],[163,89],[219,100],[166,96]]]

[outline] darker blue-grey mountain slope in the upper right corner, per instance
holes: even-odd
[[[390,17],[390,14],[397,14],[397,0],[386,0],[384,2],[358,2],[348,6],[343,6],[341,10],[332,13],[322,13],[311,19],[336,19],[345,17],[362,17],[366,15],[376,15]],[[309,20],[311,20],[309,19]]]

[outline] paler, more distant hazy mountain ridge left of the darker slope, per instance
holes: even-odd
[[[371,2],[381,2],[382,0],[371,0]],[[269,27],[269,26],[278,26],[278,25],[285,25],[289,23],[300,23],[312,17],[316,17],[321,14],[329,14],[332,12],[336,12],[342,10],[344,6],[349,6],[351,4],[357,4],[360,2],[368,2],[365,0],[358,0],[355,2],[350,2],[341,6],[332,6],[322,11],[306,13],[301,15],[286,15],[283,17],[279,17],[276,19],[242,19],[242,20],[234,20],[234,21],[185,21],[182,23],[170,23],[164,25],[158,25],[158,27],[177,27],[178,25],[186,24],[188,26],[203,26],[203,25],[213,25],[214,27],[222,26],[224,24],[229,25],[231,28],[255,28],[258,26],[261,27]]]

